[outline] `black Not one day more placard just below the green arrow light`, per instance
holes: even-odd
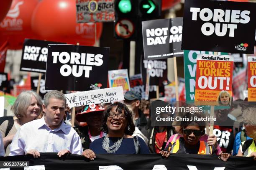
[[[145,60],[183,56],[182,17],[142,22]]]

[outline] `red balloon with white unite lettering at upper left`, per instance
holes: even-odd
[[[0,39],[8,40],[9,49],[21,49],[25,38],[35,38],[31,18],[38,0],[13,0],[10,10],[0,23]]]

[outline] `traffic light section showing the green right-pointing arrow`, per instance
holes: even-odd
[[[139,13],[142,19],[156,19],[161,16],[162,0],[138,0]]]

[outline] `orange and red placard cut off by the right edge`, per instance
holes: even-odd
[[[256,57],[248,57],[248,101],[256,101]]]

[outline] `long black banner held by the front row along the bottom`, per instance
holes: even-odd
[[[40,153],[32,155],[0,157],[0,161],[29,161],[30,169],[40,170],[255,170],[256,161],[252,157],[230,157],[227,162],[218,156],[195,154],[172,154],[164,159],[160,154],[96,155],[89,161],[81,155]],[[6,163],[5,163],[6,165]],[[10,168],[10,170],[15,168]],[[24,168],[19,168],[23,170]]]

